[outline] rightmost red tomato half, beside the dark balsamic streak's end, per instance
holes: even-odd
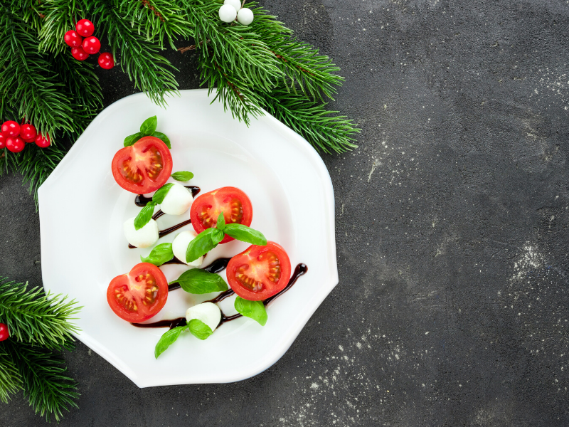
[[[251,245],[231,258],[227,266],[231,289],[245,300],[266,300],[283,290],[289,279],[289,255],[275,242]]]

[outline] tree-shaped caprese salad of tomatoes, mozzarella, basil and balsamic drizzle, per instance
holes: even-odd
[[[223,323],[243,316],[265,325],[265,307],[307,273],[307,266],[299,263],[292,273],[285,248],[250,228],[253,209],[244,191],[225,186],[197,196],[200,192],[197,186],[167,182],[170,177],[190,181],[193,174],[172,173],[170,141],[156,132],[156,126],[156,116],[145,120],[140,132],[125,138],[124,148],[112,159],[115,181],[137,194],[135,203],[142,207],[136,217],[124,222],[124,236],[129,248],[149,248],[161,237],[190,223],[193,231],[181,231],[172,243],[160,243],[146,257],[141,255],[141,263],[111,280],[107,302],[117,316],[136,327],[169,327],[156,344],[157,358],[182,332],[206,339]],[[145,196],[151,193],[154,194]],[[188,211],[186,221],[159,230],[157,220],[161,216]],[[251,246],[231,258],[218,258],[201,267],[209,251],[234,239]],[[187,265],[189,269],[168,283],[159,267],[171,263]],[[227,283],[218,275],[223,270]],[[164,307],[169,292],[179,288],[192,294],[220,293],[189,307],[185,317],[142,323]],[[234,303],[237,314],[226,316],[217,303],[233,294],[237,295]]]

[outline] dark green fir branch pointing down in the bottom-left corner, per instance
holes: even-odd
[[[50,421],[60,421],[63,411],[78,408],[77,383],[65,375],[67,368],[61,354],[27,342],[7,339],[2,346],[9,353],[23,381],[24,396],[36,413]]]

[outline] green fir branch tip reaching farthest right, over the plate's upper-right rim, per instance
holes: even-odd
[[[317,151],[341,153],[357,147],[353,135],[360,130],[346,116],[327,111],[326,103],[289,93],[285,88],[265,93],[264,101],[271,115],[302,135]]]

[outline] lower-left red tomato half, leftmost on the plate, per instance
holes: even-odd
[[[107,301],[115,315],[127,322],[144,322],[162,310],[168,299],[168,280],[151,263],[134,265],[128,274],[111,280]]]

